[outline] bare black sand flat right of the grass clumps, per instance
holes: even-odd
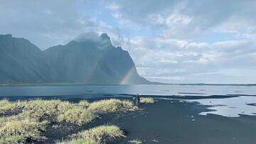
[[[119,98],[124,99],[124,98]],[[81,99],[68,99],[79,101]],[[98,100],[98,99],[97,99]],[[95,99],[89,99],[95,101]],[[256,143],[256,116],[225,117],[215,114],[198,115],[209,111],[197,102],[159,100],[154,104],[139,104],[141,111],[102,114],[90,126],[58,131],[48,130],[48,143],[93,126],[114,124],[125,131],[127,138],[117,143]],[[46,143],[44,142],[44,143]]]

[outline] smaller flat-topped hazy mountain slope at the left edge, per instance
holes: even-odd
[[[0,82],[50,82],[55,72],[46,55],[24,38],[0,35]]]

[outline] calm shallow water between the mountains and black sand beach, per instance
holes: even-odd
[[[134,94],[154,96],[155,99],[182,99],[197,101],[209,106],[210,111],[222,116],[256,115],[255,86],[216,85],[72,85],[72,86],[1,86],[0,96],[10,99],[42,97],[102,98],[113,96],[131,97]]]

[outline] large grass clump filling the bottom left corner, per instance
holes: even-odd
[[[1,143],[24,143],[26,140],[45,140],[42,132],[46,131],[47,122],[24,119],[6,121],[0,127]]]

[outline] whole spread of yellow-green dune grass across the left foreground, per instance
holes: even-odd
[[[107,99],[89,103],[85,100],[78,104],[60,100],[34,99],[29,101],[0,101],[0,144],[27,143],[46,140],[43,132],[50,123],[63,121],[75,123],[78,126],[94,121],[96,113],[117,111],[134,111],[131,101]],[[14,112],[10,112],[14,111]],[[97,126],[82,131],[72,140],[59,142],[60,144],[77,143],[108,143],[116,138],[124,137],[124,132],[117,126]]]

